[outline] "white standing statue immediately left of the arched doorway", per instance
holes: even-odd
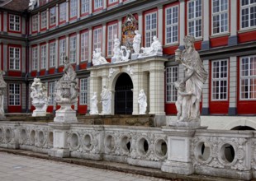
[[[106,86],[103,86],[101,96],[102,114],[111,114],[111,91]]]

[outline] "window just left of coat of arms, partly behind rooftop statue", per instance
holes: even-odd
[[[115,35],[117,35],[117,24],[107,26],[107,56],[113,55]]]

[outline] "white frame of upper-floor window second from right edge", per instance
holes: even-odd
[[[226,6],[226,9],[225,10],[221,10],[219,12],[214,12],[214,7],[213,7],[213,4],[214,2],[216,1],[219,1],[220,2],[220,6],[219,6],[219,9],[221,8],[221,6],[223,5],[223,2],[227,2],[227,6]],[[211,35],[221,35],[221,34],[226,34],[229,32],[229,23],[230,23],[230,15],[229,15],[229,0],[211,0]],[[224,24],[224,26],[221,24],[221,22],[223,22],[223,15],[226,14],[226,25]],[[214,19],[214,16],[219,16],[219,32],[217,33],[214,33],[214,22],[213,22],[213,19]],[[223,27],[226,27],[226,30],[221,30],[221,28]]]

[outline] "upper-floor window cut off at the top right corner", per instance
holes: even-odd
[[[255,0],[241,0],[241,29],[256,26],[256,1]]]

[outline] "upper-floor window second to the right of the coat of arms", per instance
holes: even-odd
[[[178,43],[178,6],[165,9],[165,42]]]

